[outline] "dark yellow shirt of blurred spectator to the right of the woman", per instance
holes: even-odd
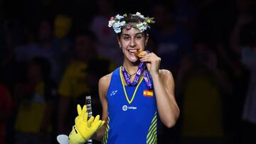
[[[209,75],[194,75],[184,89],[182,135],[223,136],[222,101],[218,86]]]

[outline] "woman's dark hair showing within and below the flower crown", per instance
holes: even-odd
[[[134,16],[132,14],[129,14],[127,16],[124,16],[124,18],[122,18],[120,21],[125,21],[125,23],[142,23],[144,21],[143,18],[140,18],[139,16]],[[125,27],[122,27],[122,29]],[[120,38],[121,34],[122,34],[122,29],[121,29],[121,33],[117,33],[118,38]],[[144,35],[147,34],[147,31],[145,30]]]

